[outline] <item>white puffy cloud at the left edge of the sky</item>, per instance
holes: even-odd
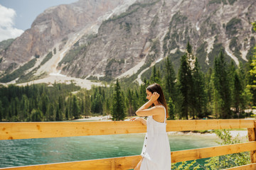
[[[15,17],[16,11],[14,9],[0,5],[0,41],[17,38],[24,32],[14,28]]]

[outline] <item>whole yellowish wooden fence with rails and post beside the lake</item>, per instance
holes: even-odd
[[[255,120],[168,120],[166,131],[220,130],[247,128],[249,142],[188,149],[171,152],[171,162],[184,162],[194,159],[216,157],[250,151],[251,163],[232,169],[256,169]],[[116,135],[146,132],[146,126],[135,121],[115,122],[45,122],[45,123],[0,123],[0,140],[18,140],[45,137],[73,137],[86,135]],[[34,166],[17,166],[0,169],[134,169],[140,155],[94,159],[79,162],[63,162]]]

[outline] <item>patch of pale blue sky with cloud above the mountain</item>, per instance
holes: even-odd
[[[0,0],[0,42],[17,38],[50,6],[78,0]]]

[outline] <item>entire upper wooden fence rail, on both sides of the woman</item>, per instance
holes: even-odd
[[[254,120],[168,120],[167,131],[254,128]],[[139,121],[0,123],[0,140],[146,132]]]

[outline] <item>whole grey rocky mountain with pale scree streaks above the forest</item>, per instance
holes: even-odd
[[[238,65],[255,45],[255,8],[254,0],[80,0],[48,8],[0,52],[0,81],[140,77],[164,57],[177,68],[188,41],[204,71],[221,48]]]

